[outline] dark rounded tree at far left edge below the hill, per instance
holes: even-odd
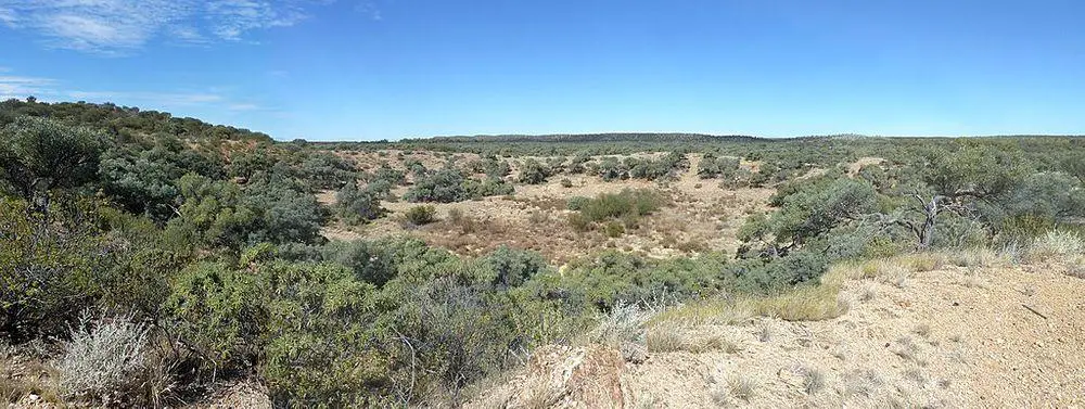
[[[0,129],[0,176],[15,193],[46,210],[49,191],[94,180],[101,139],[87,128],[18,117]]]

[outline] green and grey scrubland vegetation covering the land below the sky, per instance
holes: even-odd
[[[0,103],[0,359],[16,352],[53,374],[0,373],[0,397],[177,406],[252,379],[282,407],[457,405],[539,346],[638,334],[617,321],[819,320],[847,310],[837,297],[847,278],[904,285],[909,271],[985,257],[1080,266],[1083,164],[1085,139],[1071,137],[273,142],[164,113],[10,100]],[[675,186],[686,175],[697,190],[775,194],[729,209],[742,215],[737,251],[624,250],[623,240],[664,233],[652,221],[682,206]],[[474,233],[497,221],[472,218],[473,203],[585,181],[641,184],[533,202],[563,216],[534,225],[614,243],[562,265],[412,234]],[[438,210],[448,203],[458,207]],[[328,238],[382,220],[404,233]],[[614,318],[648,307],[661,311]],[[648,335],[625,341],[733,347]],[[814,393],[824,382],[808,372]],[[749,379],[719,387],[757,393]]]

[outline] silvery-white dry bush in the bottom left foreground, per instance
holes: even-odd
[[[157,402],[154,397],[162,391],[149,387],[163,383],[151,380],[150,328],[132,319],[129,315],[90,322],[84,316],[56,362],[65,396],[105,406]]]

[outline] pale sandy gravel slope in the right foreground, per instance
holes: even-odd
[[[737,350],[624,363],[611,406],[1082,407],[1085,280],[1062,270],[948,266],[848,282],[832,320],[678,329]]]

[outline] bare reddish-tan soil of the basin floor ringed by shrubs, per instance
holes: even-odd
[[[373,161],[387,159],[393,167],[401,167],[400,163],[394,161],[397,156],[395,153],[384,156],[375,153],[358,155],[365,155],[357,159],[359,164],[367,166],[372,165]],[[435,156],[430,153],[413,155],[436,162]],[[446,247],[461,255],[480,255],[507,245],[537,251],[559,264],[604,250],[656,258],[706,251],[733,252],[739,245],[736,233],[742,220],[749,214],[764,210],[774,190],[722,189],[718,181],[698,178],[695,169],[699,161],[700,155],[690,155],[690,169],[678,180],[666,183],[643,180],[603,181],[595,176],[557,175],[542,184],[516,184],[515,194],[511,197],[433,204],[437,208],[437,217],[443,221],[418,229],[407,229],[396,219],[397,215],[404,214],[417,203],[383,202],[382,206],[391,210],[391,217],[360,227],[331,226],[323,230],[323,234],[333,240],[413,234],[432,245]],[[510,163],[514,165],[515,161]],[[572,187],[562,187],[562,179],[572,181]],[[654,189],[663,193],[669,204],[646,217],[638,229],[628,230],[621,238],[608,238],[599,231],[576,232],[566,222],[572,213],[565,209],[569,197],[593,197],[600,193],[616,193],[624,189]],[[393,193],[401,195],[406,190],[407,188],[401,187]],[[318,194],[318,199],[330,205],[334,203],[335,195],[334,192],[323,192]],[[470,219],[469,228],[464,228],[462,222],[449,220],[452,209],[459,209]]]

